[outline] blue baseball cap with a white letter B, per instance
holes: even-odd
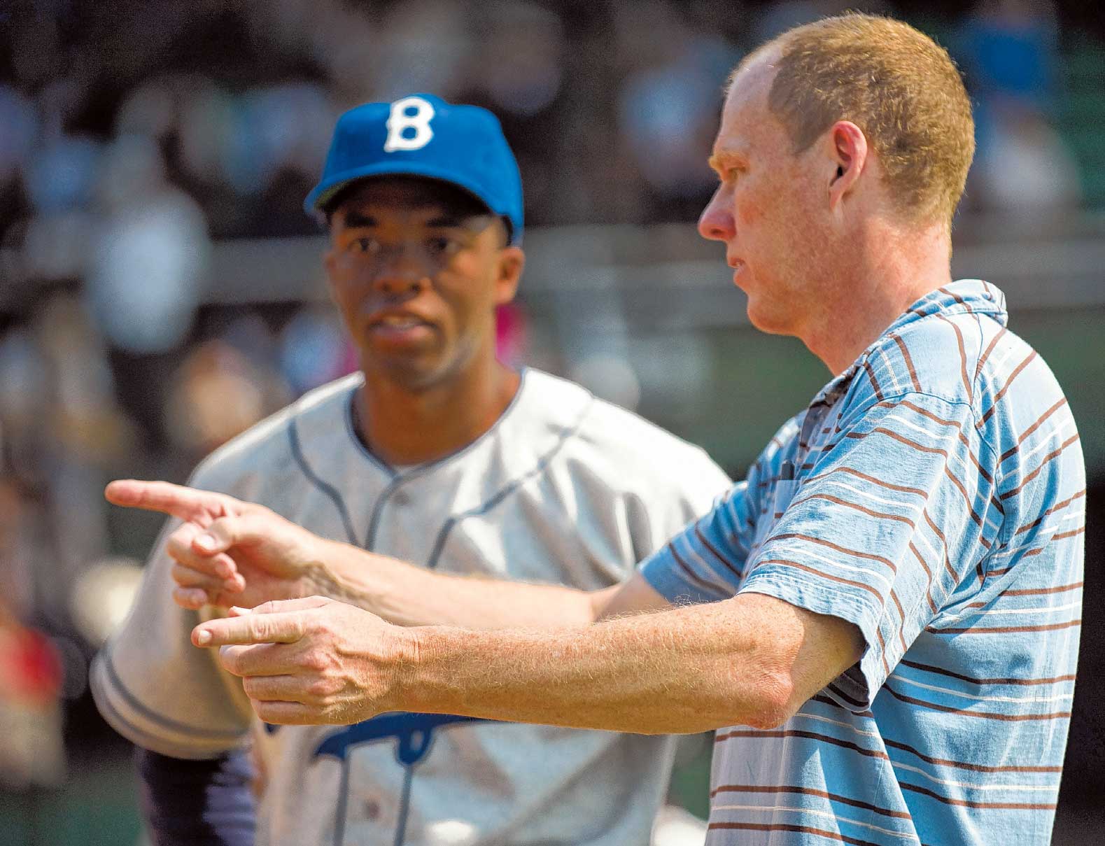
[[[503,127],[478,106],[414,94],[393,103],[366,103],[334,128],[323,178],[303,208],[316,215],[358,179],[407,175],[463,188],[509,223],[522,242],[522,175]]]

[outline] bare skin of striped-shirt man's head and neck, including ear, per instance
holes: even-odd
[[[916,221],[887,190],[863,130],[841,119],[794,154],[768,94],[778,53],[729,87],[698,220],[720,241],[758,329],[800,338],[843,371],[904,308],[950,282],[947,221]]]

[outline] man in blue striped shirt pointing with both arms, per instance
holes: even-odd
[[[314,598],[193,642],[225,647],[271,722],[402,708],[717,728],[712,846],[1046,844],[1085,475],[1062,391],[1006,329],[1001,293],[951,282],[972,152],[955,66],[904,24],[849,14],[759,49],[729,87],[699,230],[725,244],[753,322],[838,376],[747,479],[601,604],[369,562],[271,516],[281,567],[325,562],[350,602],[382,595],[425,625]],[[215,533],[214,550],[250,542],[235,517]],[[442,602],[466,610],[461,626],[432,625]],[[596,607],[614,618],[581,625]]]

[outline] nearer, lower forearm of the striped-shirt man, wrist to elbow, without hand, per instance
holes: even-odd
[[[780,625],[764,599],[556,633],[411,630],[399,697],[412,710],[641,733],[778,725],[801,621]]]

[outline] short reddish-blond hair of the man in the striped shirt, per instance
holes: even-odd
[[[902,21],[849,12],[788,30],[737,72],[772,49],[780,55],[768,107],[794,155],[851,120],[877,154],[899,210],[950,224],[975,156],[975,121],[944,47]]]

